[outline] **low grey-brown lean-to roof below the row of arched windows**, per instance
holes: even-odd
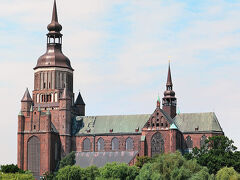
[[[137,154],[137,151],[76,152],[76,165],[85,168],[91,165],[102,167],[111,162],[128,164]]]

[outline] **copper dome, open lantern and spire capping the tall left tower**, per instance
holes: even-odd
[[[47,51],[42,55],[34,69],[43,67],[62,67],[73,70],[70,60],[62,53],[62,25],[58,22],[56,0],[54,0],[52,21],[47,26]]]

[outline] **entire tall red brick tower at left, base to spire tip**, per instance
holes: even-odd
[[[56,0],[47,29],[47,50],[34,67],[32,97],[27,89],[18,115],[18,166],[33,172],[37,179],[53,171],[71,152],[72,113],[78,106],[79,114],[85,112],[83,101],[74,103],[74,70],[62,52]]]

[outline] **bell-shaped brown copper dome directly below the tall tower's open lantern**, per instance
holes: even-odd
[[[47,52],[38,59],[34,69],[41,67],[63,67],[73,70],[70,60],[61,51],[61,44],[48,44]]]

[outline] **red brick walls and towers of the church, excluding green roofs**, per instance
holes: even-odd
[[[54,4],[53,12],[57,17],[56,4]],[[160,108],[160,100],[158,100],[155,111],[146,120],[144,127],[136,127],[135,132],[131,133],[110,131],[100,134],[73,134],[72,119],[75,116],[85,116],[85,103],[80,93],[74,103],[73,69],[69,59],[61,51],[61,25],[59,26],[58,22],[53,21],[54,18],[48,26],[47,52],[39,58],[37,66],[34,68],[32,98],[26,90],[21,101],[17,135],[19,168],[34,170],[36,176],[41,176],[45,172],[54,171],[59,160],[71,151],[98,152],[100,138],[104,142],[101,151],[137,151],[138,156],[152,156],[152,152],[168,153],[176,150],[184,152],[187,148],[186,138],[189,136],[193,147],[199,148],[203,136],[223,134],[223,132],[203,133],[198,131],[184,133],[177,127],[172,127],[175,125],[173,118],[176,116],[177,104],[175,92],[172,89],[170,66],[163,106]],[[161,137],[161,141],[154,139],[155,135]],[[117,147],[114,150],[113,139],[115,139]],[[32,144],[29,143],[30,140],[32,140]],[[87,140],[86,145],[89,146],[87,150],[84,149],[85,140]],[[127,140],[129,140],[128,149]],[[159,145],[161,149],[153,147],[154,143],[161,143]],[[40,152],[38,152],[38,148]],[[135,162],[136,157],[129,164],[132,165]]]

